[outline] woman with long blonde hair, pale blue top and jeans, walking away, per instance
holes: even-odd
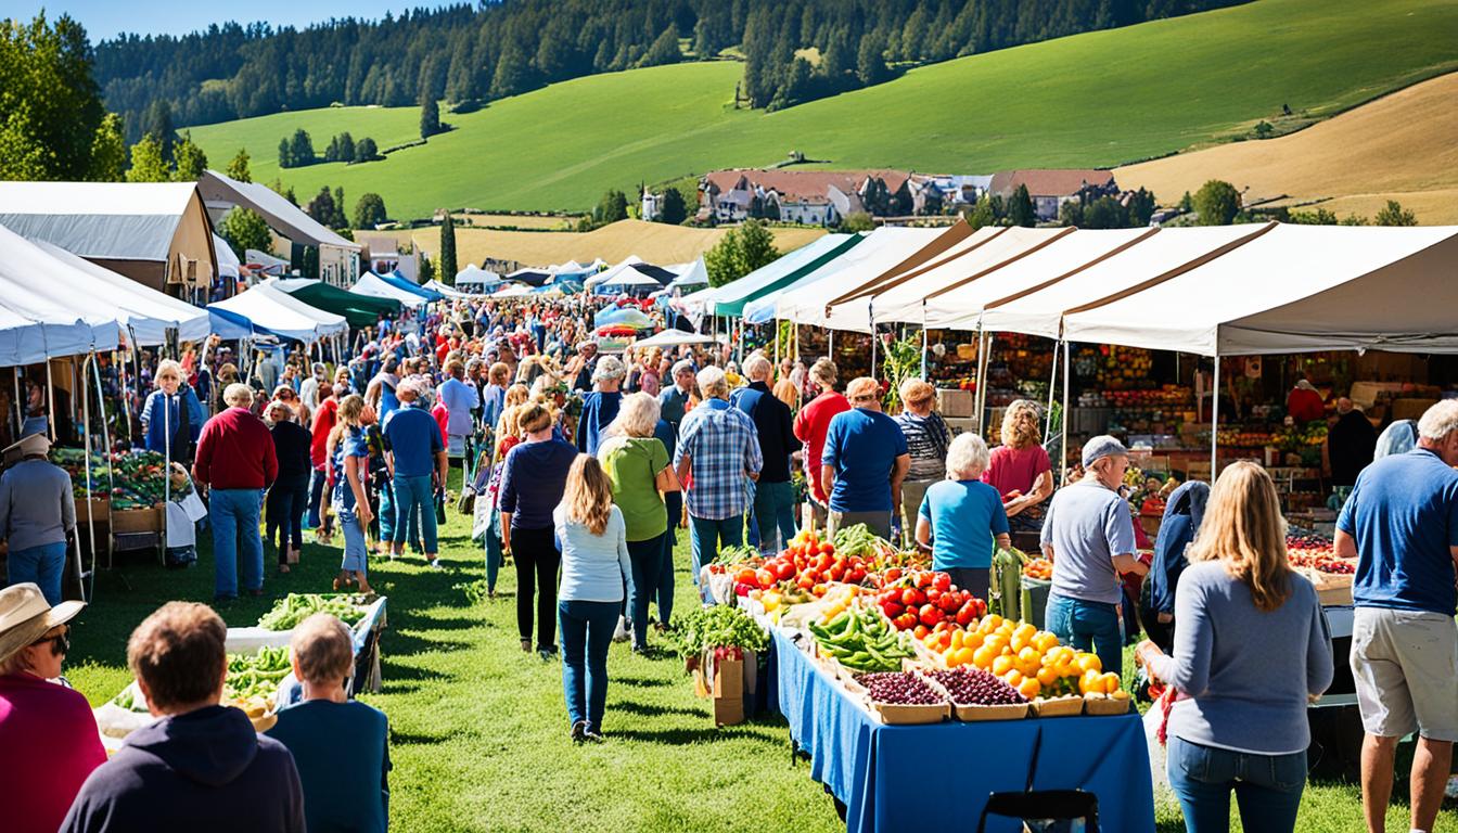
[[[596,458],[579,454],[573,461],[553,525],[561,547],[557,621],[572,740],[601,741],[608,648],[618,624],[623,585],[633,567],[627,524],[623,511],[612,505],[612,484]]]

